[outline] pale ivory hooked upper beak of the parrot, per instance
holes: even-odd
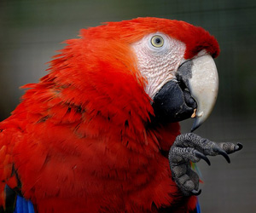
[[[183,63],[177,70],[179,78],[189,89],[197,107],[195,122],[191,131],[196,130],[209,117],[218,95],[218,72],[211,55],[202,55]]]

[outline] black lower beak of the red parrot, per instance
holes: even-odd
[[[154,95],[152,107],[154,119],[161,123],[172,123],[191,118],[197,106],[189,91],[176,80],[172,80]]]

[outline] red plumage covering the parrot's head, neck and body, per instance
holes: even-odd
[[[15,170],[40,213],[195,207],[160,152],[170,149],[179,125],[148,126],[154,112],[130,44],[151,32],[185,43],[186,59],[201,49],[213,57],[219,52],[208,32],[177,20],[139,18],[82,30],[51,61],[47,76],[23,87],[31,89],[0,124],[1,190]]]

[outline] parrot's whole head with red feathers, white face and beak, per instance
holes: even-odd
[[[100,112],[119,123],[134,114],[151,122],[195,118],[195,130],[212,111],[218,94],[212,58],[219,49],[201,27],[137,18],[83,29],[67,44],[47,79],[54,79],[66,102],[90,115]]]

